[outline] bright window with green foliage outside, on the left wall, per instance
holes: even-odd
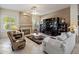
[[[16,29],[16,18],[11,16],[4,16],[1,19],[2,31],[9,31]]]

